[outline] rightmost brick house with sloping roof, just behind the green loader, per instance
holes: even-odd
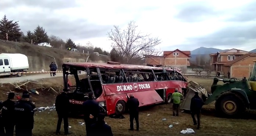
[[[250,72],[252,71],[253,60],[256,60],[256,53],[247,53],[238,57],[237,59],[227,62],[222,66],[224,76],[227,77],[229,72],[230,77],[246,77],[248,79]]]

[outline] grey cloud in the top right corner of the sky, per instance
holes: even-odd
[[[247,21],[256,21],[256,1],[246,4],[241,9],[235,9],[236,14],[233,14],[231,18],[228,18],[226,21],[232,22],[247,22]]]

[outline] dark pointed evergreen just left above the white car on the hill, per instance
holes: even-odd
[[[35,44],[44,43],[44,42],[49,43],[50,41],[47,35],[47,32],[45,32],[43,27],[40,27],[39,25],[34,30],[34,35],[35,35]]]

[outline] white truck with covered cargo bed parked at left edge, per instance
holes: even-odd
[[[9,77],[10,75],[16,75],[17,77],[21,77],[22,73],[12,73],[26,72],[28,69],[28,57],[26,55],[0,54],[0,76]]]

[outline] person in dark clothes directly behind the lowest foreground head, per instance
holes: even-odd
[[[88,93],[88,99],[83,103],[84,122],[86,127],[86,135],[90,135],[90,126],[97,121],[100,113],[99,103],[94,100],[93,92]]]

